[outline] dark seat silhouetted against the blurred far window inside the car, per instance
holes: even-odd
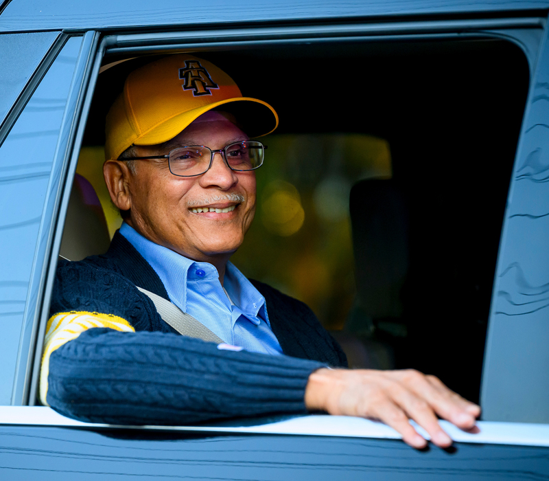
[[[395,368],[395,351],[407,335],[401,300],[408,273],[406,203],[394,179],[366,179],[351,189],[349,212],[357,293],[344,326],[348,340],[340,341],[360,339],[369,362],[364,367]]]

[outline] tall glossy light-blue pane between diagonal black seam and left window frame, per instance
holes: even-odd
[[[9,404],[34,251],[81,37],[69,38],[0,147],[0,405]]]

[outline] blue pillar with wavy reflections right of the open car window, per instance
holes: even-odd
[[[482,373],[483,418],[548,423],[549,30],[517,147]]]

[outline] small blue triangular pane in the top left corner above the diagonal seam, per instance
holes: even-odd
[[[0,122],[57,36],[58,32],[0,35]]]

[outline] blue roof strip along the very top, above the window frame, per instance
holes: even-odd
[[[0,17],[0,32],[32,30],[104,30],[118,27],[180,25],[228,25],[230,23],[265,23],[318,21],[324,19],[360,19],[376,16],[411,16],[441,14],[483,14],[493,16],[526,10],[547,10],[547,0],[478,1],[388,0],[380,2],[307,0],[249,1],[205,0],[189,5],[177,0],[12,0]]]

